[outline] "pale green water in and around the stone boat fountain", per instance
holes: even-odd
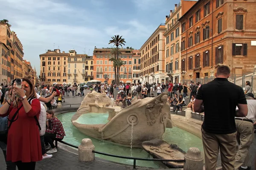
[[[75,113],[76,112],[69,112],[69,113],[64,113],[57,116],[58,119],[62,122],[62,125],[66,133],[66,136],[63,139],[64,142],[79,146],[82,139],[90,138],[93,142],[93,145],[95,146],[96,151],[109,153],[113,155],[119,155],[119,156],[131,156],[130,147],[123,147],[108,141],[102,142],[101,140],[94,139],[90,136],[86,136],[82,134],[79,130],[77,130],[76,127],[72,125],[71,118]],[[83,124],[105,124],[108,122],[108,114],[107,113],[83,114],[79,117],[77,122],[83,123]],[[203,152],[203,144],[200,138],[198,138],[197,136],[185,130],[179,129],[177,127],[166,128],[166,131],[163,134],[162,139],[168,142],[169,144],[177,144],[177,146],[180,147],[185,152],[189,149],[189,147],[197,147],[201,150],[201,152]],[[127,139],[127,140],[130,140],[130,139]],[[133,165],[132,159],[114,158],[114,157],[104,156],[99,154],[95,154],[95,156],[101,159],[106,159],[106,160],[118,162],[121,164]],[[139,157],[139,158],[153,158],[149,153],[147,153],[145,150],[141,148],[133,148],[132,156]],[[136,161],[136,165],[142,166],[142,167],[168,169],[164,164],[158,161]]]

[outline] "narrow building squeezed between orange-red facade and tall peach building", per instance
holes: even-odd
[[[132,83],[140,82],[140,51],[133,50]]]

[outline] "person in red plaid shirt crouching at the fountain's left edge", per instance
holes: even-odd
[[[62,123],[54,116],[53,111],[47,111],[46,130],[44,134],[45,149],[50,149],[47,153],[55,153],[57,149],[53,141],[61,141],[66,136]]]

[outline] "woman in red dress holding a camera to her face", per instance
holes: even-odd
[[[19,98],[15,95],[20,96]],[[15,162],[19,170],[35,170],[35,162],[42,160],[39,129],[34,116],[39,117],[41,105],[29,79],[22,79],[21,88],[13,86],[12,97],[0,108],[0,116],[14,120],[7,137],[6,160]],[[15,113],[15,119],[13,119]],[[10,121],[9,121],[10,124]]]

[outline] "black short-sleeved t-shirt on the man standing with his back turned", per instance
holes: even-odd
[[[247,104],[241,87],[225,78],[215,78],[201,85],[196,99],[203,100],[204,131],[217,134],[236,132],[236,106]]]

